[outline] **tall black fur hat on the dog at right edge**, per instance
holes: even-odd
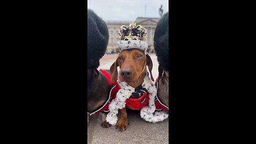
[[[154,47],[159,65],[165,71],[169,71],[169,12],[165,13],[157,23]]]

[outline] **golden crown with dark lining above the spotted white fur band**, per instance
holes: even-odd
[[[147,29],[143,28],[141,25],[136,26],[136,22],[130,22],[129,28],[126,26],[121,26],[119,29],[119,39],[121,41],[128,40],[139,40],[145,39],[147,34]]]

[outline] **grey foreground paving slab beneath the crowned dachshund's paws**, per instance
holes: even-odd
[[[169,143],[169,118],[163,122],[149,123],[140,117],[138,110],[127,110],[127,118],[130,124],[125,131],[120,132],[115,126],[103,128],[101,114],[99,114],[91,144]]]

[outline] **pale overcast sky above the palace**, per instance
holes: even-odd
[[[169,11],[168,0],[87,0],[87,9],[93,10],[103,20],[135,21],[137,17],[160,18],[158,11],[163,5]]]

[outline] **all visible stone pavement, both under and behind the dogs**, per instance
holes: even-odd
[[[158,76],[158,62],[155,54],[149,54],[153,61],[153,77]],[[104,55],[98,69],[109,69],[115,62],[117,54]],[[119,69],[118,69],[119,70]],[[90,117],[87,127],[87,142],[91,144],[133,144],[133,143],[169,143],[169,118],[163,122],[149,123],[140,117],[140,111],[127,109],[127,118],[130,125],[126,131],[119,132],[115,126],[103,128],[101,114]]]

